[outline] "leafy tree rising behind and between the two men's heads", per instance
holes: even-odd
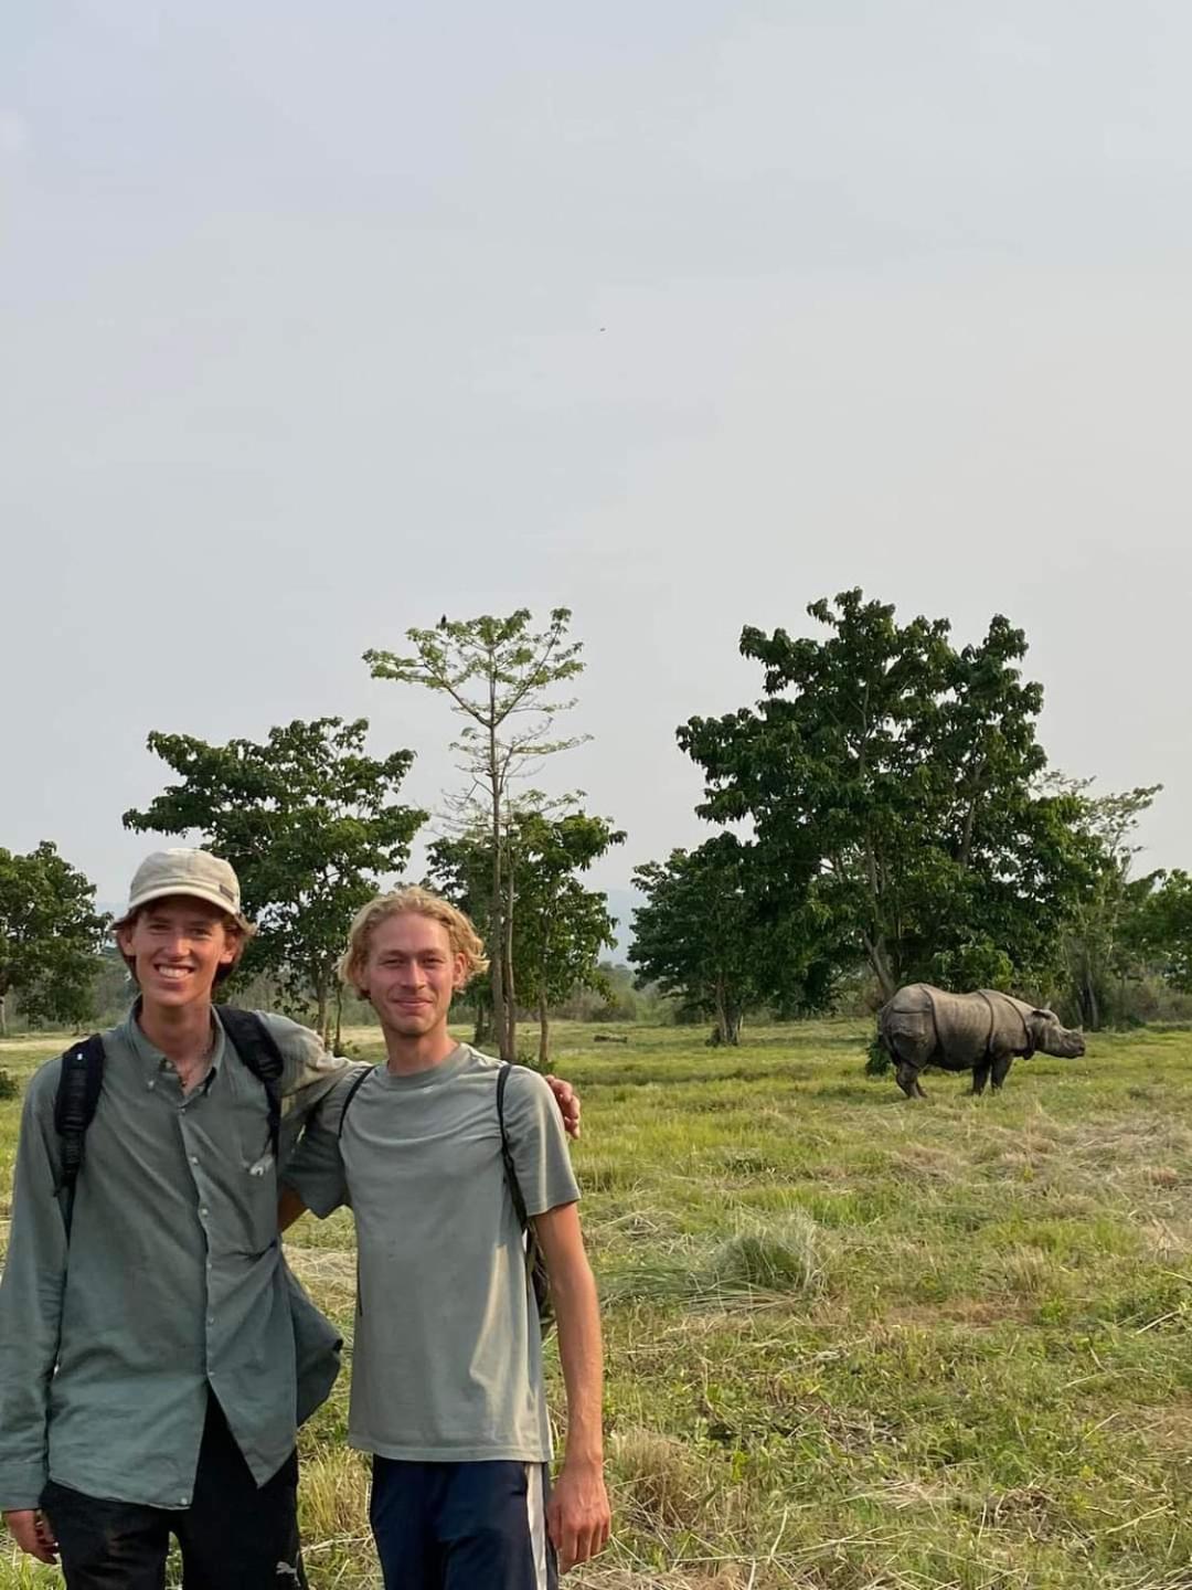
[[[405,867],[426,822],[393,798],[413,754],[366,755],[367,728],[319,717],[270,728],[264,744],[226,746],[153,733],[149,749],[180,781],[124,814],[138,832],[197,833],[235,867],[245,914],[261,927],[246,970],[272,971],[296,1002],[313,995],[324,1041],[332,995],[339,1027],[335,967],[351,917]]]

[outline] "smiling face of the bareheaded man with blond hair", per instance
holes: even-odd
[[[372,929],[359,989],[386,1032],[450,1041],[447,1013],[466,973],[466,957],[451,949],[442,922],[399,911]]]

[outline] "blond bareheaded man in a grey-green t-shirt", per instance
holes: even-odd
[[[472,924],[426,890],[366,906],[342,971],[372,1002],[388,1061],[354,1091],[335,1086],[284,1172],[294,1196],[283,1212],[351,1204],[356,1216],[348,1441],[373,1453],[386,1590],[547,1590],[555,1552],[566,1571],[609,1538],[579,1189],[550,1091],[518,1067],[505,1129],[550,1269],[567,1393],[566,1458],[547,1485],[539,1318],[502,1167],[502,1067],[447,1029],[451,995],[483,967]]]

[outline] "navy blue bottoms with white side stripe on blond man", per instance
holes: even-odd
[[[385,1590],[558,1590],[545,1463],[372,1460]]]

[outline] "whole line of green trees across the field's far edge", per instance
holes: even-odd
[[[819,634],[745,628],[760,700],[691,717],[701,768],[695,851],[634,871],[644,905],[613,970],[613,919],[585,874],[626,841],[574,795],[531,785],[582,736],[556,720],[583,669],[571,614],[529,611],[407,631],[370,650],[375,679],[451,709],[464,784],[435,819],[426,882],[469,911],[491,975],[466,1008],[480,1041],[517,1054],[517,1021],[710,1021],[734,1043],[747,1013],[871,1006],[906,981],[1047,999],[1087,1027],[1192,1010],[1192,879],[1136,871],[1136,830],[1162,785],[1097,793],[1049,768],[1027,638],[995,615],[955,647],[946,619],[900,625],[860,590],[807,607]],[[264,743],[153,731],[173,781],[129,828],[226,855],[259,925],[237,973],[334,1041],[366,1019],[335,964],[353,913],[404,876],[431,817],[401,805],[413,750],[366,754],[367,720],[315,719]],[[51,843],[0,849],[0,1027],[84,1024],[124,997],[94,887]],[[256,979],[256,983],[254,983]],[[346,1002],[345,1002],[346,1000]]]

